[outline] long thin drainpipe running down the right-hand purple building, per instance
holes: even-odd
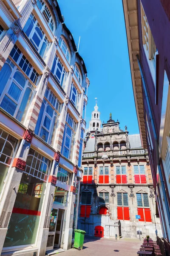
[[[169,209],[169,205],[168,205],[168,201],[167,201],[167,195],[166,195],[166,190],[165,190],[165,186],[164,186],[164,179],[163,179],[161,166],[160,166],[158,137],[157,137],[157,134],[156,134],[156,128],[155,128],[154,118],[153,118],[153,114],[152,114],[152,110],[151,110],[151,106],[150,106],[150,100],[149,100],[149,96],[148,96],[148,93],[147,93],[147,87],[146,87],[144,74],[143,74],[143,71],[142,71],[142,67],[141,67],[141,63],[140,63],[138,54],[136,55],[136,58],[137,58],[137,61],[138,61],[139,70],[140,70],[140,73],[141,73],[141,78],[142,78],[142,83],[143,83],[143,88],[144,88],[144,94],[145,94],[147,107],[148,107],[149,114],[150,114],[150,122],[151,122],[152,129],[153,129],[153,136],[154,136],[155,147],[156,147],[157,166],[158,166],[158,171],[159,171],[159,177],[160,177],[160,180],[161,180],[161,187],[162,187],[162,192],[163,192],[163,196],[164,196],[164,203],[165,203],[165,208],[166,208],[166,212],[167,212],[168,224],[169,224],[169,227],[170,227],[170,209]]]

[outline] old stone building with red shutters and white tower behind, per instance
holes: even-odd
[[[92,112],[99,112],[95,106]],[[85,140],[78,227],[90,236],[161,236],[147,150],[139,134],[129,135],[110,119],[90,127]],[[140,219],[136,219],[140,215]]]

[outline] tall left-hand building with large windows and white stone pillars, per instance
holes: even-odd
[[[0,252],[71,248],[89,80],[56,0],[0,1]]]

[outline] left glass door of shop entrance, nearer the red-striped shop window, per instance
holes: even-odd
[[[53,247],[54,247],[54,238],[55,238],[58,212],[59,212],[58,209],[52,209],[52,211],[51,211],[50,224],[49,224],[49,233],[48,233],[48,240],[47,240],[47,249],[46,250],[52,250]]]

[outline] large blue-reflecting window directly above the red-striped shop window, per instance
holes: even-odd
[[[57,99],[50,88],[47,87],[38,116],[35,134],[50,145],[54,143],[54,136],[61,110],[62,103]]]

